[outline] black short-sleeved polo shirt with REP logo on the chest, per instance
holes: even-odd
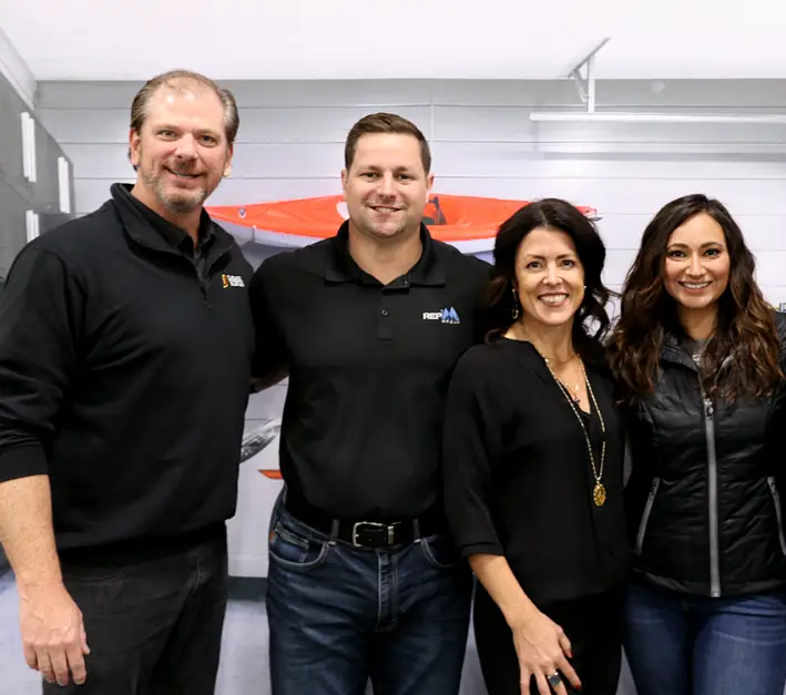
[[[417,517],[440,502],[445,397],[458,357],[482,340],[490,266],[423,226],[420,259],[382,285],[347,239],[345,223],[256,270],[254,375],[289,371],[279,456],[295,505]]]

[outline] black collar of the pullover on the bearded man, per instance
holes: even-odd
[[[132,187],[132,184],[115,183],[110,192],[121,212],[125,228],[134,241],[156,251],[176,251],[192,255],[194,242],[188,233],[131,195]],[[203,207],[200,217],[200,248],[207,251],[215,238],[215,225]]]

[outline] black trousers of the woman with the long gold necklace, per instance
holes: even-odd
[[[582,695],[615,695],[622,668],[622,593],[564,601],[540,610],[571,641],[571,664],[581,679],[581,691],[563,678],[565,691]],[[521,670],[513,636],[502,612],[481,584],[474,595],[474,641],[489,695],[521,695]],[[530,693],[538,685],[530,682]],[[672,695],[665,691],[660,695]]]

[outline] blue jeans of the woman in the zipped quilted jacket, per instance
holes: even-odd
[[[786,592],[711,599],[632,583],[625,613],[639,695],[783,695]]]

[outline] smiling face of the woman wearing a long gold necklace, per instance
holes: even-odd
[[[516,284],[528,325],[572,321],[584,299],[584,268],[571,237],[558,229],[532,229],[516,255]]]

